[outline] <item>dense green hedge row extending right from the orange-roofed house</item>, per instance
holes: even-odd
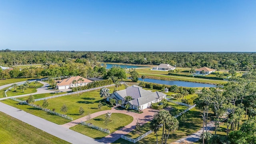
[[[82,86],[82,90],[87,90],[87,89],[90,89],[90,88],[97,88],[97,87],[100,87],[100,86],[106,86],[106,85],[110,85],[110,84],[113,84],[112,80],[108,79],[108,80],[99,80],[99,81],[94,81],[94,82],[91,82],[89,84],[87,84],[86,86]],[[78,88],[78,90],[80,90],[80,87]],[[76,92],[76,88],[72,88],[72,91],[73,92]]]

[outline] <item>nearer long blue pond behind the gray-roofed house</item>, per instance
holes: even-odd
[[[139,80],[143,81],[142,78],[139,78]],[[216,87],[215,84],[203,84],[203,83],[197,83],[197,82],[184,82],[184,81],[169,81],[169,80],[156,80],[151,78],[145,78],[144,82],[153,82],[156,84],[166,84],[166,85],[174,85],[177,86],[184,86],[184,87]]]

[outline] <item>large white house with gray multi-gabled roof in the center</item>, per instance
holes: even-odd
[[[126,101],[126,96],[131,96],[132,100]],[[165,97],[166,94],[163,94],[162,92],[150,92],[142,89],[140,86],[133,85],[125,90],[119,90],[110,94],[107,101],[110,101],[110,99],[113,98],[116,100],[116,103],[121,100],[122,105],[129,103],[131,105],[131,109],[144,110],[146,108],[150,108],[152,103],[160,102],[162,99],[165,99]]]

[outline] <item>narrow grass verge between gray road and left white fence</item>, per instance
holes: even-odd
[[[24,110],[25,112],[28,112],[30,114],[34,114],[35,116],[38,116],[40,118],[44,118],[50,122],[54,122],[56,124],[66,124],[67,122],[70,122],[70,120],[68,120],[68,119],[62,118],[62,117],[54,115],[54,114],[50,114],[50,113],[40,110],[38,108],[33,108],[32,106],[18,105],[19,102],[16,102],[11,99],[1,100],[1,102],[8,104],[10,106],[13,106],[15,108],[18,108],[20,110]]]

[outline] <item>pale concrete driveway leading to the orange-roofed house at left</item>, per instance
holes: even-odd
[[[64,89],[64,90],[48,90],[48,86],[50,86],[50,84],[48,84],[47,82],[43,82],[43,81],[39,81],[40,83],[44,84],[44,86],[41,86],[40,88],[37,88],[37,92],[34,92],[34,93],[31,93],[31,94],[22,94],[22,95],[18,95],[18,96],[12,96],[13,98],[18,98],[18,97],[22,97],[22,96],[30,96],[30,95],[34,95],[34,94],[46,94],[46,93],[56,93],[56,92],[68,92],[68,91],[71,91],[70,89]],[[19,83],[22,83],[22,82],[18,82]],[[6,84],[6,85],[9,85],[9,84]],[[8,87],[8,86],[6,86]],[[12,84],[10,84],[11,86]],[[8,99],[8,95],[6,98],[0,98],[0,100],[4,100],[4,99]]]

